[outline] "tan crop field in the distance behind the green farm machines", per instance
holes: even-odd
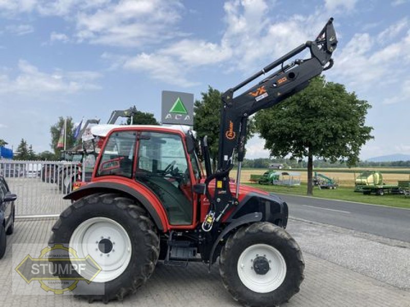
[[[374,168],[373,168],[374,169]],[[263,174],[267,169],[265,168],[252,168],[252,169],[242,169],[241,172],[241,182],[242,183],[249,183],[249,179],[251,174]],[[342,170],[342,169],[341,169]],[[344,169],[346,170],[346,169]],[[320,173],[324,174],[325,176],[336,179],[341,187],[353,187],[355,185],[355,178],[359,176],[360,170],[364,170],[364,168],[360,169],[351,169],[352,172],[345,172],[345,171],[337,171],[337,169],[331,170],[321,170]],[[386,184],[393,184],[396,185],[399,180],[410,180],[410,169],[400,169],[403,173],[391,173],[391,171],[397,171],[397,168],[383,168],[381,170],[383,174],[383,180]],[[308,182],[308,172],[305,170],[293,170],[296,172],[300,172],[300,180],[302,183]],[[354,172],[356,171],[356,172]],[[231,177],[236,179],[236,170],[231,171]]]

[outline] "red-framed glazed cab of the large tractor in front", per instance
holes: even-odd
[[[194,225],[193,186],[201,170],[188,130],[158,126],[117,127],[107,135],[94,180],[119,176],[149,189],[161,202],[170,225]],[[191,146],[190,146],[191,147]],[[194,203],[195,202],[195,203]]]

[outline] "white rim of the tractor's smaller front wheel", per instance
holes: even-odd
[[[269,271],[257,274],[254,260],[264,257],[269,263]],[[245,287],[258,293],[268,293],[276,290],[286,276],[286,262],[282,254],[273,246],[255,244],[245,249],[238,259],[238,276]]]

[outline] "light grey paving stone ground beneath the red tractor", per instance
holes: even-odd
[[[55,220],[18,220],[15,233],[9,236],[8,250],[0,260],[0,305],[2,306],[80,306],[88,302],[72,295],[12,295],[13,243],[44,243]],[[311,227],[314,227],[314,225]],[[319,227],[319,226],[318,226]],[[303,227],[290,229],[294,236]],[[299,236],[299,240],[304,240]],[[378,279],[365,276],[341,265],[317,257],[312,250],[302,247],[306,263],[305,280],[300,292],[285,307],[296,306],[394,306],[409,307],[409,289],[400,289]],[[410,258],[408,258],[410,259]],[[410,261],[410,260],[408,260]],[[409,274],[404,274],[408,276]],[[37,282],[37,281],[34,281]],[[39,287],[39,286],[38,286]],[[94,302],[100,305],[101,302]],[[123,302],[111,302],[112,306],[239,306],[223,288],[218,267],[212,272],[202,264],[190,264],[187,268],[167,267],[159,264],[150,280],[134,295]]]

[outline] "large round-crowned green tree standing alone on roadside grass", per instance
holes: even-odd
[[[344,85],[314,78],[308,87],[273,108],[258,112],[257,129],[271,156],[308,157],[308,195],[313,194],[313,157],[358,162],[360,148],[372,139],[365,125],[371,105]]]

